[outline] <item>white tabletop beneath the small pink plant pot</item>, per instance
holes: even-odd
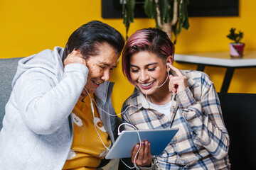
[[[175,54],[174,61],[222,67],[253,67],[256,66],[256,51],[245,51],[242,58],[231,58],[229,52]]]

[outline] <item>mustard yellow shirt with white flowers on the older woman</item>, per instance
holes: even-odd
[[[94,98],[93,94],[90,94],[90,96]],[[100,120],[94,101],[92,103],[95,111],[94,116],[88,95],[83,102],[78,101],[72,111],[74,125],[73,144],[63,169],[96,169],[107,153],[105,146],[109,149],[111,147],[111,140]],[[105,146],[102,142],[104,142]]]

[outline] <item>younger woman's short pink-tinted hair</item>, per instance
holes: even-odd
[[[137,30],[127,40],[122,52],[122,72],[132,82],[130,75],[130,58],[136,52],[152,52],[163,62],[170,55],[174,59],[174,44],[168,35],[158,28],[144,28]]]

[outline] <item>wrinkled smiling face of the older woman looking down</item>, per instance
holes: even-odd
[[[117,67],[118,54],[114,48],[108,43],[100,44],[99,55],[89,57],[86,60],[86,66],[89,69],[87,83],[85,89],[89,93],[95,93],[100,84],[108,81],[112,75],[112,71]]]

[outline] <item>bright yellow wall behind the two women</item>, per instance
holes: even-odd
[[[193,1],[191,1],[193,3]],[[245,50],[256,50],[256,1],[240,1],[238,17],[191,17],[189,30],[178,36],[176,53],[228,51],[230,42],[225,36],[231,27],[244,31]],[[122,19],[101,18],[101,0],[1,0],[0,1],[0,58],[25,57],[46,48],[65,46],[68,37],[84,23],[100,20],[110,24],[123,35]],[[129,35],[140,28],[154,27],[154,21],[135,19]],[[194,64],[178,64],[180,69],[196,69]],[[220,91],[224,68],[206,67],[205,72]],[[122,102],[133,91],[122,75],[118,64],[112,81],[116,82],[113,103],[119,112]],[[256,68],[236,69],[228,92],[256,93]]]

